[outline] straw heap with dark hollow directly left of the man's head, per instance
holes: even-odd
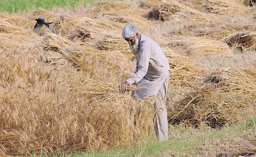
[[[124,24],[116,23],[105,16],[104,19],[74,16],[61,23],[59,33],[70,41],[87,47],[126,52],[123,49],[127,44],[124,44],[125,40],[120,35],[123,27]]]

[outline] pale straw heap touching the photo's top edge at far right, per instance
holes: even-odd
[[[221,1],[221,0],[206,0],[203,4],[207,12],[217,13],[217,14],[239,14],[247,13],[248,7],[242,4],[237,4],[231,0]]]

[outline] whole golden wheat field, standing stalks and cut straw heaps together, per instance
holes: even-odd
[[[156,140],[154,97],[135,101],[136,86],[125,94],[118,88],[136,67],[122,38],[129,23],[169,61],[170,129],[221,129],[255,116],[254,5],[145,0],[0,13],[0,156],[104,151]],[[38,16],[53,23],[33,34]],[[244,148],[236,155],[255,154],[255,139]]]

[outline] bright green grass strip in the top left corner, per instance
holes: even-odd
[[[52,10],[53,7],[72,8],[76,5],[93,4],[96,0],[1,0],[0,12],[17,13],[38,7]]]

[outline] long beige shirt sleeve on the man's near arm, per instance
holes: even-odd
[[[151,54],[151,47],[148,44],[143,44],[140,48],[140,57],[138,61],[138,70],[126,81],[132,85],[139,82],[148,71],[148,63]]]

